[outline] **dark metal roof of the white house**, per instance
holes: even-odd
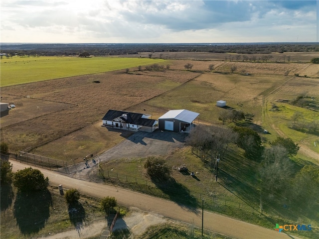
[[[125,117],[124,115],[126,115],[127,117]],[[149,126],[149,127],[153,126],[154,123],[157,121],[155,119],[142,118],[143,115],[145,114],[133,113],[133,112],[127,112],[127,111],[109,110],[105,114],[105,116],[102,118],[102,120],[114,121],[115,119],[120,118],[127,123]]]

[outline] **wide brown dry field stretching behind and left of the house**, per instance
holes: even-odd
[[[187,54],[199,57],[195,53]],[[165,96],[187,89],[187,84],[193,84],[194,89],[198,86],[211,89],[208,95],[189,95],[181,100],[189,106],[185,108],[194,111],[207,111],[209,107],[203,107],[203,104],[210,104],[222,97],[227,98],[228,104],[234,108],[239,102],[250,102],[251,108],[261,107],[260,96],[268,94],[286,79],[295,78],[296,73],[312,78],[291,80],[291,94],[296,93],[296,88],[302,91],[300,88],[309,82],[313,87],[307,87],[308,91],[318,95],[318,78],[315,78],[319,77],[318,65],[218,61],[219,54],[207,54],[214,54],[215,58],[211,61],[170,60],[167,63],[169,70],[131,69],[130,74],[122,70],[3,87],[1,102],[12,102],[17,107],[0,119],[1,141],[8,143],[11,152],[42,145],[34,153],[62,160],[82,159],[89,153],[107,150],[127,136],[100,126],[109,109],[143,111],[158,119],[167,110],[174,109],[170,105],[174,99]],[[205,53],[200,55],[203,57]],[[304,53],[300,54],[300,61],[306,56],[312,58],[311,54]],[[184,70],[188,62],[193,64],[192,71]],[[214,73],[207,70],[210,64],[215,66]],[[230,67],[234,64],[237,70],[231,74]],[[288,71],[289,75],[285,76]],[[152,103],[160,98],[159,104]],[[205,119],[205,112],[199,113]],[[209,119],[209,114],[206,119]]]

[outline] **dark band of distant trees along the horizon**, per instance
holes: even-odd
[[[76,56],[89,52],[95,56],[138,54],[139,52],[214,52],[270,54],[272,52],[319,52],[319,44],[307,43],[185,43],[185,44],[1,44],[1,53],[13,55]]]

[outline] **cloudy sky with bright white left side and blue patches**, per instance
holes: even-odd
[[[0,42],[316,42],[318,0],[1,0]]]

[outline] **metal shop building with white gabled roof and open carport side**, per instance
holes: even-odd
[[[159,118],[159,128],[161,130],[170,130],[175,132],[189,133],[194,120],[198,118],[199,113],[188,110],[168,111]]]

